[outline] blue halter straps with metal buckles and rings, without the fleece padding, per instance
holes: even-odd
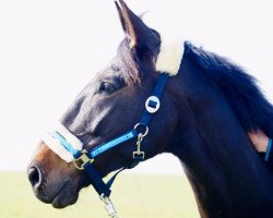
[[[56,130],[50,130],[48,132],[51,138],[54,138],[55,141],[58,141],[58,143],[73,156],[74,166],[79,170],[84,170],[88,174],[94,189],[96,190],[100,199],[105,203],[105,208],[108,215],[112,218],[117,218],[118,216],[114,207],[114,204],[109,198],[111,194],[110,186],[114,183],[114,180],[116,179],[118,173],[120,173],[124,169],[130,169],[130,168],[135,167],[139,162],[145,159],[145,152],[141,149],[141,143],[143,138],[149,134],[149,124],[153,118],[153,114],[157,112],[161,107],[159,99],[162,97],[164,87],[168,81],[168,77],[169,77],[169,74],[167,73],[159,74],[152,95],[145,101],[145,111],[142,114],[140,122],[136,123],[132,130],[106,143],[103,143],[92,148],[91,150],[86,150],[84,148],[79,150],[78,148],[75,148],[76,146],[72,145],[70,138],[73,138],[74,141],[76,141],[78,138],[68,130],[63,130],[66,134],[62,134],[61,131],[58,132]],[[103,178],[99,175],[99,173],[96,171],[96,169],[93,166],[95,158],[112,149],[114,147],[120,144],[123,144],[126,142],[132,141],[134,138],[136,138],[136,150],[132,153],[131,165],[128,167],[121,168],[110,178],[110,180],[107,183],[105,183],[103,181]]]

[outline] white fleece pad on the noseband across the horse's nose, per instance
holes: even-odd
[[[76,150],[83,149],[82,142],[60,122],[57,122],[52,126],[48,128],[48,130],[46,130],[46,134],[41,138],[61,159],[67,162],[73,161],[73,155],[68,152],[57,138],[52,137],[55,132],[59,133]]]

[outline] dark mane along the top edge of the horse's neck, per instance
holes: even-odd
[[[245,131],[262,130],[273,136],[273,107],[257,80],[226,58],[185,43],[185,56],[201,66],[224,93]]]

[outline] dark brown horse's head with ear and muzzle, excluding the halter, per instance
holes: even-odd
[[[138,17],[127,4],[116,2],[126,38],[117,56],[86,85],[60,119],[86,150],[132,129],[145,110],[145,100],[158,77],[155,69],[161,37]],[[162,104],[170,106],[170,92],[165,89]],[[176,125],[176,112],[164,107],[155,114],[149,136],[142,142],[145,159],[166,150]],[[169,122],[171,120],[171,122]],[[135,142],[128,142],[99,156],[93,164],[98,173],[107,173],[130,165]],[[66,159],[66,158],[64,158]],[[45,141],[38,144],[28,167],[28,178],[36,196],[54,207],[76,202],[79,191],[90,185],[85,172],[64,161]]]

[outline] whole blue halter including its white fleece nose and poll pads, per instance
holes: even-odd
[[[73,161],[74,166],[79,170],[85,170],[94,189],[98,193],[100,199],[105,203],[105,208],[108,215],[112,218],[117,218],[118,215],[112,202],[109,198],[111,193],[110,186],[119,172],[124,169],[133,168],[145,159],[145,153],[141,149],[141,142],[149,133],[149,124],[153,118],[153,114],[156,113],[161,107],[159,99],[169,75],[176,75],[180,68],[180,62],[183,55],[181,41],[167,43],[164,40],[162,35],[161,37],[161,52],[158,53],[155,64],[156,71],[161,73],[152,95],[145,101],[145,111],[142,114],[140,122],[136,123],[132,130],[115,137],[114,140],[97,145],[91,150],[84,149],[82,142],[61,123],[57,123],[51,129],[49,129],[43,138],[43,141],[60,158],[67,162]],[[121,168],[110,178],[107,183],[105,183],[93,166],[95,158],[108,152],[109,149],[134,138],[136,138],[136,150],[132,153],[132,164],[128,167]]]

